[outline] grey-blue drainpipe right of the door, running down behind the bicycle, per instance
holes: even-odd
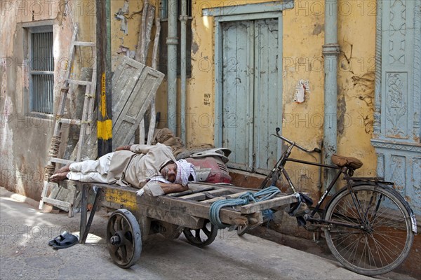
[[[323,162],[332,164],[331,156],[337,152],[338,137],[338,0],[325,0],[324,57],[324,123]],[[324,186],[333,179],[333,169],[325,169]]]

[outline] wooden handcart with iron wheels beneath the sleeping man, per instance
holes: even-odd
[[[107,246],[119,267],[131,267],[139,258],[142,241],[154,233],[176,239],[181,232],[194,246],[207,246],[218,234],[218,227],[210,223],[210,205],[258,190],[234,186],[189,183],[189,190],[152,197],[136,195],[137,188],[127,188],[100,183],[71,182],[81,191],[80,243],[85,243],[89,228],[99,206],[116,209],[107,223]],[[88,193],[95,193],[95,202],[88,218]],[[287,204],[297,202],[295,195],[276,195],[270,200],[255,202],[220,210],[220,221],[234,226],[255,226],[264,222],[262,211],[277,211]]]

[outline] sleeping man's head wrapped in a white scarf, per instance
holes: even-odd
[[[196,181],[196,171],[194,165],[186,160],[178,160],[177,162],[168,162],[161,169],[161,175],[167,181],[179,183],[186,186],[189,181]]]

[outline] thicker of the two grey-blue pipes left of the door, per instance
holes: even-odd
[[[167,61],[167,106],[168,128],[177,133],[177,21],[178,21],[178,0],[168,0],[168,37],[166,44],[168,45],[168,61]]]

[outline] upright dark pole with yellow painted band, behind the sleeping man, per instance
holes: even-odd
[[[112,152],[110,0],[96,0],[98,157]]]

